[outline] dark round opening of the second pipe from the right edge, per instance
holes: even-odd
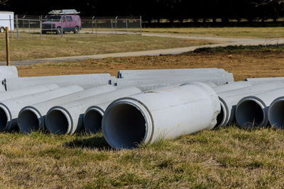
[[[263,114],[263,109],[256,101],[244,101],[236,110],[236,120],[241,127],[252,129],[263,122]]]

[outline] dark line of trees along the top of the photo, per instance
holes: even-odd
[[[22,15],[46,15],[53,9],[75,8],[81,16],[142,16],[144,21],[170,22],[185,19],[199,21],[221,18],[248,21],[266,21],[284,15],[284,0],[62,0],[62,1],[12,1],[0,0],[1,11],[14,11]]]

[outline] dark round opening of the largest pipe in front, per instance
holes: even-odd
[[[146,120],[135,106],[118,103],[104,114],[103,130],[111,147],[136,148],[146,135]]]

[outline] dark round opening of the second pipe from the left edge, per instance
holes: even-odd
[[[23,133],[38,130],[39,124],[38,116],[31,110],[23,110],[18,116],[18,127]]]

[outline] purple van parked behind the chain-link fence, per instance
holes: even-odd
[[[65,32],[74,32],[79,33],[81,30],[82,23],[79,15],[50,15],[46,17],[45,22],[42,23],[41,32],[56,32],[57,34],[61,34]],[[61,30],[62,28],[62,30]]]

